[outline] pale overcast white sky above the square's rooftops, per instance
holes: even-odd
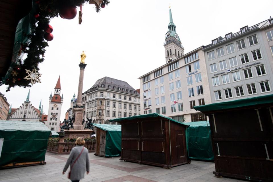
[[[49,95],[61,75],[64,96],[61,121],[77,95],[80,54],[86,53],[83,92],[104,76],[126,81],[140,88],[137,79],[165,64],[164,40],[171,6],[176,32],[187,53],[243,26],[262,22],[272,13],[272,0],[263,1],[181,1],[181,0],[111,0],[96,13],[94,5],[85,4],[82,24],[73,20],[51,19],[54,39],[48,42],[45,61],[40,63],[41,82],[31,88],[0,87],[12,108],[18,108],[30,89],[30,102],[36,108],[40,100],[48,113]]]

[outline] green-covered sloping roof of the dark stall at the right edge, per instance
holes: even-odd
[[[273,103],[273,94],[193,107],[203,113]]]

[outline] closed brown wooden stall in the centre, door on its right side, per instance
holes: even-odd
[[[187,164],[187,125],[157,113],[111,119],[121,123],[120,160],[171,168]]]

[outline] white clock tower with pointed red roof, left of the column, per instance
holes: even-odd
[[[59,132],[59,124],[61,121],[61,110],[63,105],[63,95],[61,96],[61,81],[60,76],[58,78],[57,84],[54,88],[54,94],[49,96],[49,107],[46,126],[55,132]]]

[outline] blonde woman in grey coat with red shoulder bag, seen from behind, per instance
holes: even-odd
[[[63,168],[63,174],[70,165],[70,171],[68,178],[72,182],[79,182],[80,179],[84,178],[84,172],[89,173],[89,157],[88,149],[84,147],[84,138],[78,137],[76,139],[76,146],[72,148],[69,158]]]

